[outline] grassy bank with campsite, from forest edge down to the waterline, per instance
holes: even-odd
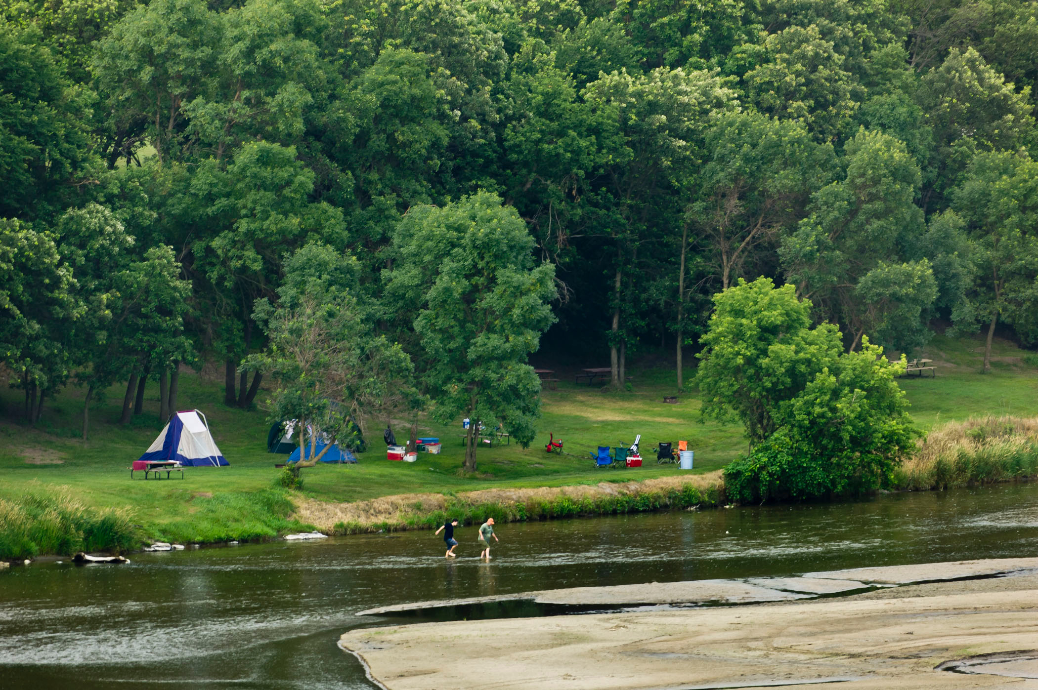
[[[911,402],[912,415],[925,430],[986,415],[1012,414],[1021,418],[1038,415],[1038,368],[1025,361],[1027,353],[1012,343],[995,342],[993,371],[989,375],[980,374],[983,356],[980,338],[936,337],[923,354],[934,360],[937,377],[903,379],[901,385]],[[143,413],[127,425],[116,423],[122,391],[117,388],[107,391],[105,398],[91,407],[92,429],[87,441],[79,438],[81,390],[70,388],[57,399],[48,401],[40,423],[28,427],[17,421],[22,405],[21,391],[3,389],[0,390],[0,412],[3,413],[0,416],[0,499],[10,503],[20,501],[27,493],[66,495],[98,515],[106,510],[127,512],[132,524],[140,525],[140,534],[147,539],[191,543],[243,541],[295,531],[307,524],[325,526],[329,531],[334,531],[339,523],[339,531],[366,529],[383,523],[394,527],[433,525],[447,510],[474,517],[487,509],[481,505],[496,505],[508,515],[525,515],[527,519],[684,505],[684,498],[672,498],[668,494],[655,497],[624,494],[617,498],[612,492],[626,492],[623,488],[634,482],[649,481],[646,486],[652,486],[656,480],[676,481],[680,487],[683,480],[715,472],[745,451],[740,426],[712,421],[701,423],[696,391],[677,393],[672,369],[650,363],[632,366],[629,369],[633,378],[632,389],[622,392],[606,393],[598,387],[573,383],[573,372],[580,366],[597,363],[579,362],[566,368],[539,362],[539,365],[555,368],[555,376],[562,381],[557,389],[544,391],[544,413],[538,438],[526,449],[516,444],[480,448],[479,471],[474,474],[460,471],[463,454],[460,420],[447,425],[422,420],[420,435],[440,437],[443,452],[440,456],[422,453],[413,464],[385,460],[380,439],[384,420],[378,420],[368,430],[372,449],[359,456],[358,465],[327,465],[305,470],[303,491],[292,494],[274,488],[277,471],[273,465],[283,462],[283,457],[266,452],[266,415],[258,410],[246,411],[223,405],[222,370],[182,375],[179,407],[198,408],[206,413],[214,438],[230,466],[192,468],[183,480],[130,478],[131,462],[162,429],[163,420],[158,416],[158,390],[154,384],[147,390]],[[692,374],[687,370],[686,380],[690,380]],[[676,393],[677,405],[662,402],[663,395]],[[394,429],[398,436],[406,434],[402,422],[394,422]],[[544,451],[549,434],[554,434],[556,439],[562,437],[567,454]],[[590,450],[599,444],[629,443],[635,434],[643,436],[643,454],[647,460],[644,467],[630,470],[595,468]],[[695,451],[695,469],[691,472],[653,462],[651,449],[657,441],[678,440],[687,440]],[[932,476],[927,474],[929,470],[909,470],[914,466],[906,465],[904,473],[899,474],[899,486],[922,489],[982,480],[960,478],[981,476],[980,463],[975,463],[976,469],[965,474],[961,471],[964,467],[961,463],[954,466],[959,468],[955,471],[940,469],[951,462],[950,457],[948,452],[940,456],[945,459],[944,465]],[[941,478],[945,476],[951,478],[945,480]],[[1020,474],[1010,468],[998,476]],[[550,494],[561,487],[567,487],[569,492],[586,492],[586,495],[581,494],[582,497],[576,499],[559,493],[556,498],[544,499],[543,503],[539,502],[540,498],[524,498],[515,502],[514,507],[510,507],[513,503],[495,504],[497,498],[470,498],[486,491],[504,495],[514,491],[536,494],[544,490]],[[344,515],[330,523],[305,510],[294,516],[289,498],[293,496],[292,500],[300,505],[360,505],[364,501],[402,494],[439,498],[410,500],[410,516],[389,513],[389,517],[353,519]],[[415,507],[419,501],[421,507]],[[40,545],[39,552],[55,551]]]

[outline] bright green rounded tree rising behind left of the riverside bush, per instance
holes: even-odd
[[[798,300],[793,285],[775,287],[769,278],[739,278],[713,301],[698,355],[702,414],[739,419],[757,444],[781,425],[782,403],[837,358],[840,331],[827,323],[812,328],[811,302]]]

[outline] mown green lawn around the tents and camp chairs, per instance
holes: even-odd
[[[983,342],[979,338],[934,338],[926,356],[935,360],[937,376],[903,380],[911,412],[924,429],[972,415],[1038,414],[1038,369],[1026,364],[1025,353],[1009,342],[994,349],[993,371],[980,374]],[[567,376],[569,374],[569,376]],[[691,378],[686,372],[686,380]],[[479,472],[460,472],[463,447],[460,421],[447,426],[424,423],[422,436],[438,436],[440,456],[420,453],[416,463],[385,459],[381,422],[368,430],[371,450],[354,466],[321,465],[305,470],[304,494],[321,499],[352,501],[390,494],[462,492],[490,488],[552,487],[627,481],[677,474],[675,466],[657,466],[652,448],[657,441],[687,440],[695,451],[693,472],[718,469],[746,448],[740,426],[699,421],[694,392],[667,405],[674,394],[674,372],[634,368],[632,390],[603,393],[596,387],[573,384],[572,374],[556,374],[557,390],[543,394],[543,418],[535,443],[480,448]],[[217,444],[230,463],[225,468],[196,468],[184,480],[131,480],[129,467],[162,427],[158,417],[158,386],[152,385],[142,415],[126,427],[118,417],[121,390],[113,388],[103,404],[91,408],[89,441],[79,439],[82,391],[70,388],[57,401],[48,401],[35,429],[15,421],[21,410],[20,391],[0,391],[5,416],[0,423],[0,498],[20,496],[33,488],[69,487],[88,505],[130,506],[145,528],[162,533],[173,522],[200,523],[227,512],[244,510],[222,494],[249,494],[269,489],[274,463],[283,456],[266,451],[268,423],[262,411],[227,408],[222,402],[222,379],[193,372],[181,377],[181,409],[198,408],[209,418]],[[260,395],[262,399],[263,395]],[[395,426],[398,438],[406,436]],[[566,456],[544,451],[548,435],[564,441]],[[595,446],[630,443],[641,434],[646,466],[631,470],[596,469],[589,451]],[[138,475],[139,476],[139,475]]]

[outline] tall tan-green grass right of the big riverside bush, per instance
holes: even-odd
[[[1038,476],[1038,417],[971,417],[935,427],[895,471],[894,487],[944,490]]]

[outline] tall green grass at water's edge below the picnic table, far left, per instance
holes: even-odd
[[[141,536],[127,509],[93,509],[67,491],[31,492],[0,499],[0,558],[32,558],[40,553],[77,551],[125,553]]]

